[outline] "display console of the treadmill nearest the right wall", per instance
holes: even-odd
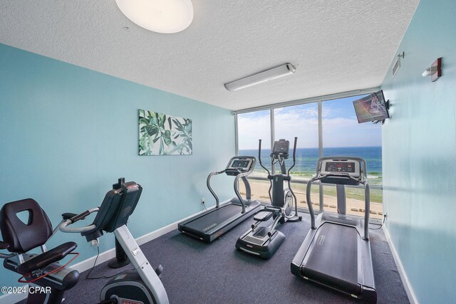
[[[318,177],[327,184],[359,184],[361,164],[356,159],[323,159]]]

